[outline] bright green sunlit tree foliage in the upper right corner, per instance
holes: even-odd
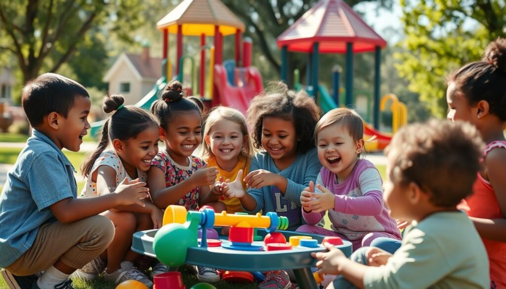
[[[401,0],[405,52],[397,53],[400,75],[431,112],[446,112],[446,76],[481,58],[491,40],[506,33],[501,0]]]

